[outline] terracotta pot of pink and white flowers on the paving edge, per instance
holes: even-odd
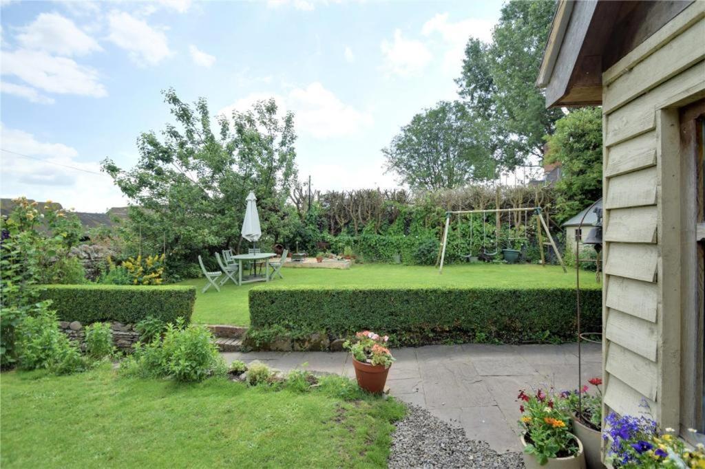
[[[355,339],[346,340],[343,348],[353,354],[353,366],[357,385],[367,392],[380,394],[384,391],[389,367],[394,357],[387,348],[388,336],[364,330],[355,334]]]

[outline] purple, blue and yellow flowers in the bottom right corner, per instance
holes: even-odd
[[[654,420],[610,413],[602,434],[610,444],[608,461],[617,468],[705,468],[702,444],[693,451],[673,435],[673,428],[660,432]],[[694,429],[689,429],[695,432]]]

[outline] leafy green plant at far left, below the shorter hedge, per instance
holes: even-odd
[[[84,370],[86,363],[78,344],[59,330],[49,302],[37,304],[16,330],[18,366],[23,370],[49,370],[66,375]]]

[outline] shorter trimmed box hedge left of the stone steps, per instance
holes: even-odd
[[[90,324],[129,324],[153,316],[165,322],[183,317],[190,322],[195,287],[176,285],[42,285],[41,299],[53,301],[59,320]]]

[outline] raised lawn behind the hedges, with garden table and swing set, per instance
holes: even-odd
[[[465,264],[448,265],[443,275],[438,269],[420,265],[364,264],[349,270],[283,268],[284,279],[269,285],[354,285],[354,286],[422,286],[422,287],[575,287],[575,270],[563,270],[556,265],[532,264]],[[238,287],[228,284],[218,293],[211,288],[201,293],[205,279],[193,279],[181,284],[197,287],[193,320],[196,323],[249,325],[250,311],[247,292],[261,288],[264,283]],[[581,272],[580,284],[595,287],[595,275]]]

